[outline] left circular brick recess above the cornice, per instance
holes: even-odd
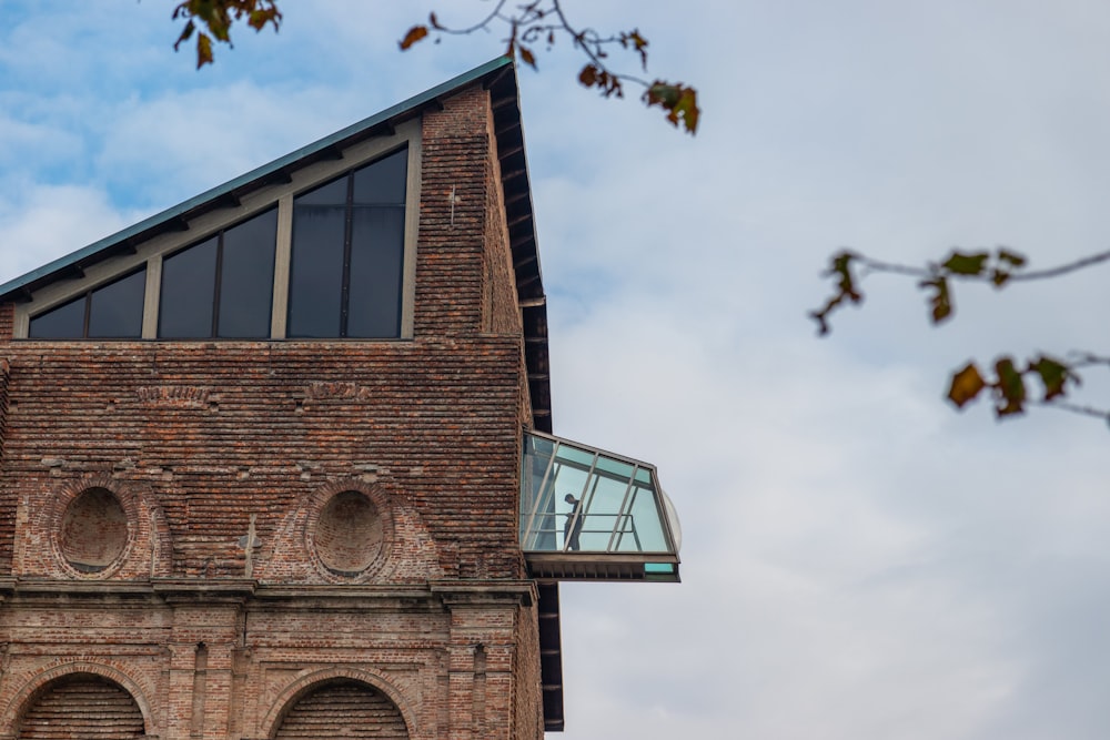
[[[127,544],[128,516],[112,491],[89,488],[70,501],[59,538],[70,566],[99,572],[120,557]]]

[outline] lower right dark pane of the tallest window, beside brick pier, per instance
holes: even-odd
[[[353,215],[347,336],[400,336],[405,210],[356,207]]]

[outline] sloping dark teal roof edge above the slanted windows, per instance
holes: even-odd
[[[193,197],[189,199],[188,201],[184,201],[183,203],[179,203],[178,205],[167,209],[161,213],[157,213],[148,219],[140,221],[137,224],[128,226],[122,231],[115,232],[114,234],[111,234],[109,236],[105,236],[104,239],[93,242],[88,246],[77,250],[75,252],[71,252],[70,254],[58,257],[57,260],[53,260],[52,262],[49,262],[42,265],[41,267],[32,270],[31,272],[24,275],[20,275],[19,277],[10,280],[7,283],[0,285],[0,300],[11,298],[14,294],[18,294],[20,291],[29,286],[31,283],[40,281],[54,273],[67,270],[70,266],[81,262],[82,260],[92,257],[93,255],[97,255],[98,253],[108,250],[109,247],[112,247],[133,236],[138,236],[144,232],[149,232],[161,224],[164,224],[167,222],[172,222],[174,219],[178,219],[183,214],[193,211],[198,206],[215,201],[216,199],[226,196],[233,193],[236,189],[243,187],[244,185],[248,185],[252,182],[262,180],[269,175],[273,175],[274,173],[281,171],[282,168],[289,166],[290,164],[293,164],[303,159],[312,156],[313,154],[326,150],[329,146],[333,146],[347,139],[351,139],[352,136],[356,136],[357,134],[363,133],[374,128],[375,125],[386,123],[391,119],[397,118],[398,115],[416,111],[440,97],[447,95],[460,88],[472,84],[481,80],[482,78],[486,77],[487,74],[496,72],[497,70],[501,70],[506,67],[512,68],[513,60],[507,57],[498,57],[494,60],[486,62],[485,64],[482,64],[481,67],[476,67],[468,72],[464,72],[463,74],[460,74],[456,78],[447,80],[446,82],[438,84],[432,88],[431,90],[426,90],[420,93],[418,95],[410,98],[404,102],[397,103],[392,108],[387,108],[384,111],[375,113],[374,115],[371,115],[367,119],[363,119],[357,123],[353,123],[346,126],[345,129],[341,129],[333,134],[324,136],[319,141],[302,146],[296,151],[290,152],[289,154],[285,154],[284,156],[281,156],[274,160],[273,162],[263,164],[262,166],[251,170],[245,174],[241,174],[238,178],[223,183],[222,185],[218,185],[211,190],[208,190],[201,193],[200,195],[194,195]]]

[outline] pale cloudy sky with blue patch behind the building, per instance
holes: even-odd
[[[480,0],[284,0],[196,71],[172,4],[0,0],[0,282],[502,51],[397,50]],[[1110,246],[1110,7],[564,4],[703,121],[579,88],[565,42],[519,71],[555,433],[655,464],[684,533],[680,585],[563,586],[562,738],[1110,737],[1110,429],[944,401],[971,357],[1104,351],[1110,267],[806,317],[844,246]]]

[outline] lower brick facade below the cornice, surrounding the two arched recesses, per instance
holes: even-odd
[[[10,710],[51,680],[93,673],[122,686],[147,733],[162,738],[269,737],[299,696],[336,678],[382,691],[413,738],[542,737],[527,699],[538,660],[522,649],[534,615],[495,588],[253,597],[248,584],[238,588],[221,597],[165,582],[111,598],[24,589],[0,610],[9,640],[0,736],[18,726]]]

